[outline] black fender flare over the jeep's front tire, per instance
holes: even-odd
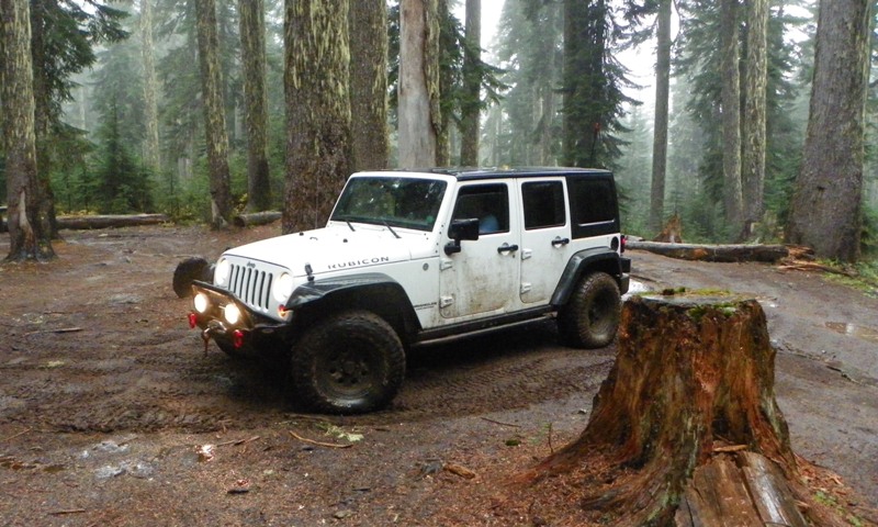
[[[304,316],[363,309],[387,321],[404,343],[420,324],[405,289],[387,274],[367,272],[317,279],[297,287],[285,307]]]

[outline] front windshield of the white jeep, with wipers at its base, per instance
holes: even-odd
[[[432,231],[444,191],[438,179],[352,178],[330,220]]]

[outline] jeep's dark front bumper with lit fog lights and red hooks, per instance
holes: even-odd
[[[203,294],[207,302],[204,311],[189,313],[191,328],[200,328],[206,349],[211,339],[219,347],[230,347],[236,354],[247,356],[266,355],[286,341],[289,322],[277,322],[250,310],[244,302],[228,291],[195,281],[192,284],[195,295]],[[235,323],[226,319],[225,310],[235,305],[240,313]],[[292,314],[290,314],[292,318]]]

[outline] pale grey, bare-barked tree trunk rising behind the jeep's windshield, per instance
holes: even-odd
[[[399,166],[436,165],[439,112],[439,18],[437,0],[399,3]]]

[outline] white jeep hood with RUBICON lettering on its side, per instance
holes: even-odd
[[[290,269],[293,276],[304,276],[305,265],[314,274],[368,269],[409,260],[410,248],[428,247],[429,233],[396,229],[401,236],[397,238],[381,226],[357,224],[354,228],[329,226],[288,234],[235,247],[224,256],[274,264]]]

